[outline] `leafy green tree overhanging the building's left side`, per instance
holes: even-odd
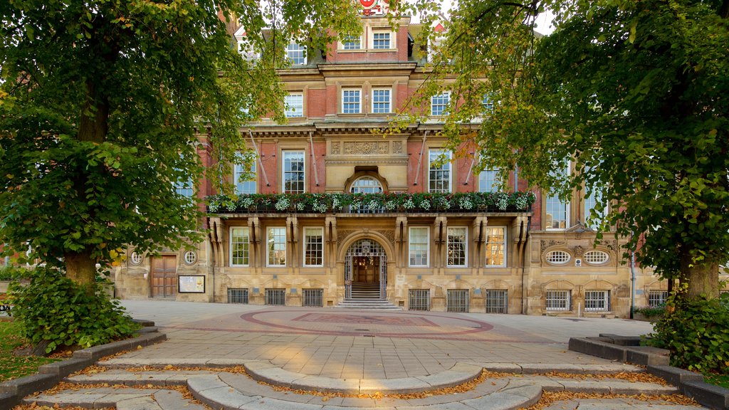
[[[0,240],[82,285],[131,245],[199,240],[173,186],[230,174],[240,127],[283,120],[289,41],[359,27],[350,1],[98,0],[0,4]],[[238,16],[238,17],[235,17]],[[246,61],[226,27],[246,28]],[[270,28],[264,36],[264,28]],[[324,30],[330,28],[331,30]],[[207,142],[210,144],[207,144]]]

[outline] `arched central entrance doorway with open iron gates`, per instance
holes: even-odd
[[[348,299],[387,298],[387,254],[377,241],[359,239],[344,257],[344,294]]]

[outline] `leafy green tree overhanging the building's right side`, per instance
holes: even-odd
[[[434,26],[432,4],[414,7]],[[556,29],[535,35],[545,10]],[[459,1],[412,102],[451,90],[453,147],[472,140],[481,167],[518,165],[564,196],[585,186],[640,263],[714,298],[729,260],[728,15],[728,0]],[[568,159],[574,174],[554,172]]]

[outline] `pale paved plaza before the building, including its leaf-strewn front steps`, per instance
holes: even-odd
[[[67,379],[80,387],[42,393],[26,403],[117,410],[516,410],[560,394],[539,409],[698,408],[675,396],[674,386],[631,376],[642,368],[567,349],[571,337],[650,333],[647,322],[122,304],[133,317],[154,321],[167,340],[99,362],[104,370]],[[501,373],[483,374],[484,369]],[[607,376],[617,373],[627,376]],[[448,390],[464,383],[470,387]],[[175,390],[180,386],[197,401]]]

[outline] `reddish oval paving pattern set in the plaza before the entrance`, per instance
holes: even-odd
[[[454,314],[425,312],[306,312],[278,310],[250,312],[241,319],[252,325],[335,336],[452,337],[487,332],[493,325]]]

